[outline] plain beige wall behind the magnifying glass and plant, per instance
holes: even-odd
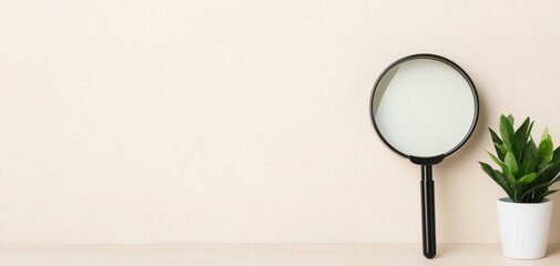
[[[505,193],[477,161],[500,113],[560,143],[558,10],[1,1],[0,243],[417,243],[420,168],[367,106],[378,73],[418,52],[461,65],[481,101],[472,139],[434,170],[438,241],[497,243]]]

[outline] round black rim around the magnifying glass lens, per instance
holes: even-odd
[[[403,152],[400,152],[399,150],[397,150],[396,147],[394,147],[381,134],[381,132],[379,131],[379,127],[377,126],[377,123],[375,122],[375,114],[374,114],[374,96],[375,96],[375,93],[377,91],[377,85],[379,84],[379,82],[381,81],[381,79],[385,76],[385,74],[390,71],[393,68],[395,68],[396,65],[400,64],[400,63],[404,63],[404,62],[407,62],[407,61],[410,61],[410,60],[415,60],[415,59],[429,59],[429,60],[435,60],[435,61],[439,61],[439,62],[442,62],[451,68],[454,68],[457,72],[459,72],[462,78],[467,81],[467,83],[469,84],[469,88],[472,92],[472,98],[475,100],[475,115],[472,117],[472,123],[470,124],[470,129],[469,129],[469,132],[465,135],[465,137],[461,140],[461,142],[459,142],[459,144],[457,144],[455,147],[452,147],[450,151],[444,153],[444,154],[440,154],[440,155],[435,155],[435,156],[429,156],[429,157],[417,157],[417,156],[414,156],[411,154],[405,154]],[[479,103],[478,103],[478,93],[477,93],[477,89],[475,86],[475,83],[472,82],[472,80],[470,79],[470,76],[467,74],[467,72],[465,72],[465,70],[462,70],[458,64],[456,64],[455,62],[452,62],[451,60],[447,59],[447,58],[444,58],[441,55],[437,55],[437,54],[431,54],[431,53],[417,53],[417,54],[411,54],[411,55],[408,55],[408,57],[404,57],[395,62],[393,62],[391,64],[389,64],[389,66],[387,66],[383,72],[381,74],[379,74],[379,76],[377,78],[375,84],[374,84],[374,89],[371,90],[371,96],[369,99],[369,114],[370,114],[370,119],[371,119],[371,123],[374,124],[374,127],[375,127],[375,131],[377,132],[377,135],[379,136],[379,139],[381,139],[383,143],[389,147],[393,152],[399,154],[400,156],[403,157],[407,157],[407,158],[410,158],[413,162],[415,163],[419,163],[419,164],[436,164],[436,163],[439,163],[444,160],[444,157],[446,156],[449,156],[450,154],[455,153],[457,150],[459,150],[462,145],[465,145],[465,143],[469,140],[469,137],[472,135],[472,133],[475,132],[475,127],[477,125],[477,122],[478,122],[478,113],[479,113]]]

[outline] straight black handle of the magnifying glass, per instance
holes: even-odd
[[[421,204],[422,204],[422,248],[424,256],[436,256],[436,207],[434,201],[434,181],[431,165],[422,165]]]

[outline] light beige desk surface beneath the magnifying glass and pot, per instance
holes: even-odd
[[[2,245],[0,265],[560,265],[560,245],[537,260],[505,258],[498,245],[440,245],[434,259],[420,250],[415,244]]]

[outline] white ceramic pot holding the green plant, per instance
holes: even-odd
[[[513,203],[498,200],[501,252],[505,257],[536,259],[547,254],[552,201]]]

